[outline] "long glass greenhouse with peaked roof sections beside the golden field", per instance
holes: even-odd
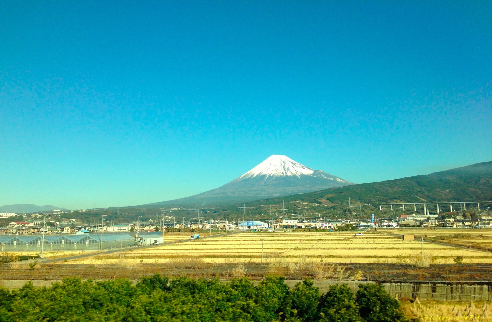
[[[0,236],[1,251],[41,251],[42,235]],[[128,234],[45,235],[44,250],[98,250],[130,246],[135,238]]]

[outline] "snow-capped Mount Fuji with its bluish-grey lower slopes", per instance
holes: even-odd
[[[221,187],[189,197],[148,205],[203,206],[237,203],[353,184],[327,172],[311,169],[286,156],[273,155]]]

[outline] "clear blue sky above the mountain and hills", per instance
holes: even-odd
[[[239,2],[1,1],[0,205],[492,160],[491,1]]]

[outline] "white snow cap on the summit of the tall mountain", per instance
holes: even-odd
[[[314,169],[308,168],[299,162],[290,159],[287,156],[272,155],[267,160],[261,162],[245,174],[241,178],[251,178],[259,175],[273,176],[297,176],[309,175],[315,172]]]

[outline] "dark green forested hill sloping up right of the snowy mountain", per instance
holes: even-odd
[[[351,201],[361,203],[489,201],[492,200],[492,161],[427,175],[299,193],[250,204],[281,203],[282,200],[327,200],[345,204],[349,197]]]

